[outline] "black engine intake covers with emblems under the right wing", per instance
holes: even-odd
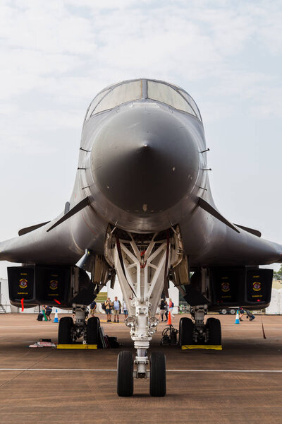
[[[261,309],[269,305],[272,269],[214,268],[209,270],[209,276],[213,306]]]

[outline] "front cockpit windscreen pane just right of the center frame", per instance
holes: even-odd
[[[148,81],[148,98],[157,100],[158,102],[166,103],[166,105],[197,116],[192,107],[182,97],[182,95],[180,95],[180,93],[174,88],[167,86],[166,84]]]

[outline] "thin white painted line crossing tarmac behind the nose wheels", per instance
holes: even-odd
[[[98,370],[93,368],[0,368],[0,371],[90,371],[90,372],[108,372],[116,369]],[[166,372],[282,372],[282,370],[166,370]]]

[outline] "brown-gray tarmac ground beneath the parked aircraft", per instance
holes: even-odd
[[[176,328],[181,316],[173,319]],[[281,424],[282,316],[244,317],[239,325],[233,315],[216,317],[222,351],[160,346],[166,326],[160,324],[151,346],[166,353],[166,397],[152,398],[149,381],[135,380],[134,396],[120,398],[118,352],[133,350],[123,322],[102,322],[121,348],[60,351],[27,347],[39,338],[56,343],[58,324],[37,322],[34,314],[1,314],[0,423]]]

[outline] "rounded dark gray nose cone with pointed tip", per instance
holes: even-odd
[[[183,122],[171,112],[131,108],[94,138],[91,168],[99,190],[124,211],[165,211],[194,187],[199,152]]]

